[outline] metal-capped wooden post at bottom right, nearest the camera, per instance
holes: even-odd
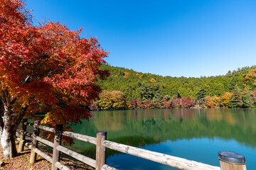
[[[218,152],[221,170],[246,170],[245,157],[242,154],[231,151]]]

